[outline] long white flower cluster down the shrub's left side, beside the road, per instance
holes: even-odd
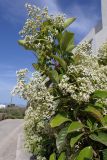
[[[24,125],[25,147],[29,152],[40,156],[41,134],[45,132],[45,123],[55,113],[57,104],[54,97],[48,92],[43,77],[39,73],[34,73],[28,80],[27,73],[26,69],[17,72],[18,81],[13,94],[18,94],[29,102]]]

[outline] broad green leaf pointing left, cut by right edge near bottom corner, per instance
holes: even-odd
[[[89,136],[92,140],[100,142],[102,144],[104,144],[105,146],[107,146],[107,133],[105,132],[98,132],[98,134],[91,134]]]

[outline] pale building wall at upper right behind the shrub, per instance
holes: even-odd
[[[81,41],[90,41],[93,53],[98,52],[103,43],[107,41],[107,0],[101,0],[102,20],[100,24],[92,28],[89,34]]]

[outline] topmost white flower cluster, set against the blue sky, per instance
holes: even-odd
[[[58,30],[64,27],[64,15],[49,15],[48,9],[40,9],[35,5],[26,4],[29,19],[27,19],[20,34],[26,43],[33,49],[40,51],[39,54],[52,48],[54,36]]]

